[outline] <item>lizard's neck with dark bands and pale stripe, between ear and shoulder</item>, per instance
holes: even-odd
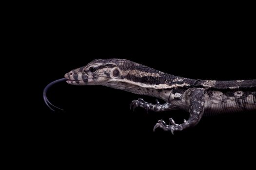
[[[164,73],[134,62],[119,64],[120,78],[111,79],[106,86],[139,95],[168,101],[171,89],[194,85],[196,80]]]

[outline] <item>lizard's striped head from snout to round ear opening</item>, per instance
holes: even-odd
[[[107,85],[121,77],[118,67],[121,59],[96,59],[88,65],[73,69],[65,74],[67,83],[71,85]]]

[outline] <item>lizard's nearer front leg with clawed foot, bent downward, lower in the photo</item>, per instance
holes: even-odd
[[[193,89],[189,94],[189,112],[190,117],[188,120],[184,120],[181,124],[176,124],[175,121],[170,118],[170,123],[172,125],[167,125],[163,120],[158,120],[158,123],[154,126],[154,131],[156,128],[161,128],[164,131],[171,131],[174,134],[174,131],[182,131],[188,127],[193,127],[202,118],[204,112],[204,93],[201,89]]]

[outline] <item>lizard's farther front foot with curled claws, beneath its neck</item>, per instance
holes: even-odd
[[[166,111],[166,110],[171,110],[171,104],[170,103],[164,103],[164,104],[160,104],[158,102],[158,100],[156,100],[157,104],[152,104],[149,102],[145,102],[143,99],[138,99],[138,100],[134,100],[131,105],[130,105],[130,109],[134,109],[137,107],[142,107],[144,109],[147,110],[147,112],[149,110],[151,111],[155,111],[155,112],[160,112],[160,111]]]

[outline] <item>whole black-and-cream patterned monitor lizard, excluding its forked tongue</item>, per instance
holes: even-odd
[[[195,126],[204,114],[256,110],[256,80],[215,81],[183,78],[125,59],[97,59],[87,66],[65,74],[71,85],[105,85],[128,92],[162,99],[156,104],[134,100],[131,108],[147,111],[181,109],[190,113],[188,120],[171,125],[159,120],[156,128],[181,131]]]

